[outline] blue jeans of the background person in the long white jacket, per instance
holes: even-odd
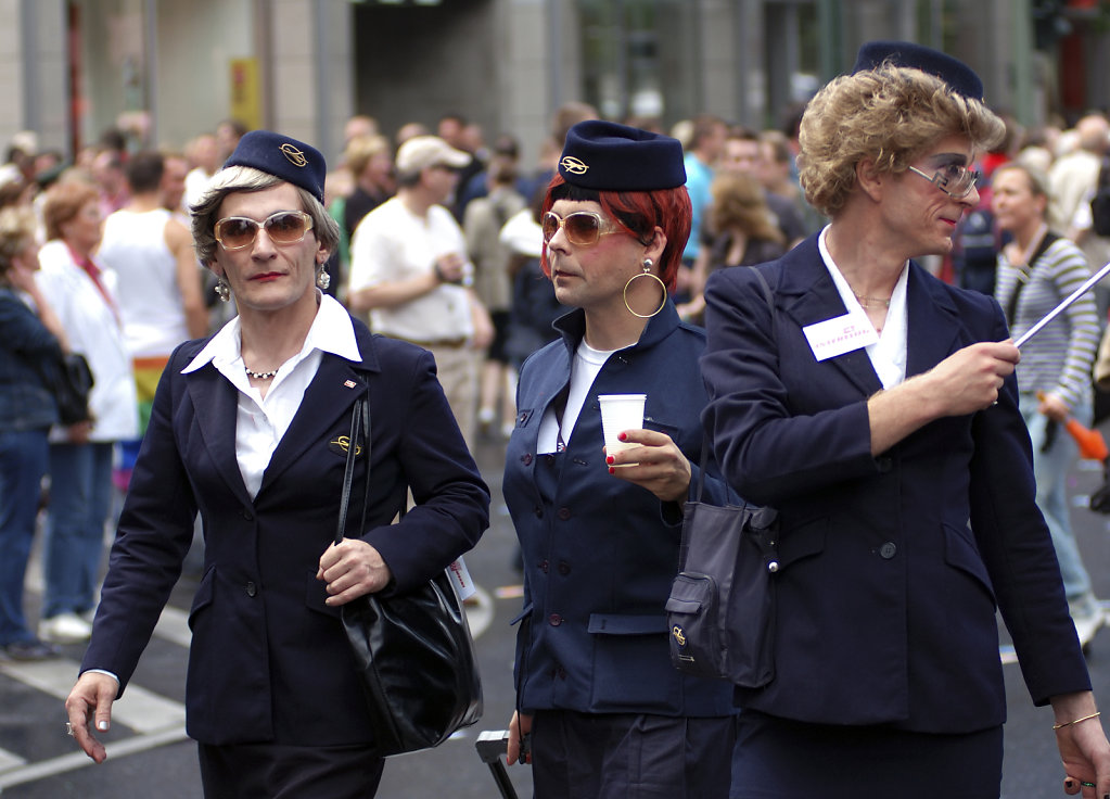
[[[94,607],[111,499],[111,443],[50,445],[43,618]]]

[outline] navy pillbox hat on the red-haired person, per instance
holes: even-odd
[[[597,191],[653,191],[686,183],[678,139],[599,119],[571,128],[558,173],[572,186]]]

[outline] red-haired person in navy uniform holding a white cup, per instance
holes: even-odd
[[[677,140],[574,126],[544,202],[543,267],[573,311],[521,370],[502,489],[524,556],[517,712],[535,796],[728,793],[731,687],[670,665],[664,606],[698,473],[702,329],[669,299],[689,236]],[[598,394],[647,396],[604,448]],[[707,469],[708,470],[708,469]],[[725,487],[706,479],[719,501]]]

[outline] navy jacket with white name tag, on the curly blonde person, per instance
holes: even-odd
[[[707,429],[725,479],[779,510],[777,676],[747,708],[819,723],[966,732],[1005,720],[996,607],[1037,703],[1089,688],[1056,552],[1035,505],[1017,382],[878,457],[864,350],[818,362],[803,328],[846,312],[813,237],[706,288]],[[993,299],[915,263],[907,376],[1008,337]]]

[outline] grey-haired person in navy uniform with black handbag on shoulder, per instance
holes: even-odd
[[[371,336],[323,294],[339,229],[324,159],[246,133],[192,208],[200,260],[239,317],[173,352],[112,548],[92,640],[65,701],[97,762],[200,513],[204,576],[190,611],[186,727],[204,796],[373,796],[383,758],[339,619],[402,592],[477,541],[490,495],[432,356]],[[369,397],[367,526],[334,543],[355,399]],[[412,491],[415,507],[398,523]],[[412,663],[420,669],[420,663]]]

